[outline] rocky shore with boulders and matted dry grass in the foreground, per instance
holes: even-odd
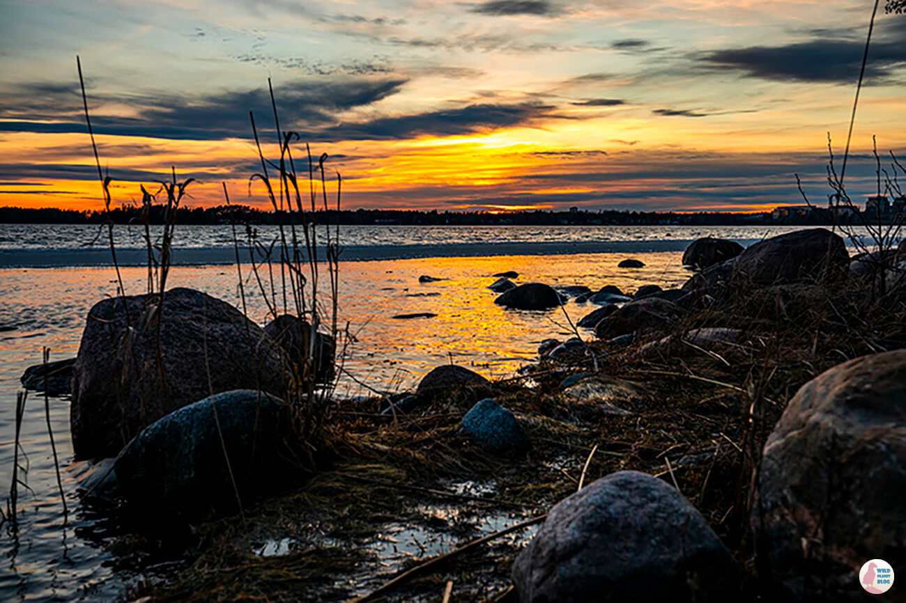
[[[904,262],[850,258],[816,228],[696,241],[677,289],[499,273],[501,312],[589,312],[515,378],[445,365],[323,407],[300,396],[337,372],[317,324],[262,328],[176,289],[99,302],[74,363],[24,383],[59,390],[72,371],[76,453],[115,457],[86,500],[146,524],[120,539],[124,567],[184,545],[136,598],[440,600],[452,581],[454,600],[854,601],[864,561],[906,566]],[[317,445],[300,428],[315,407]],[[526,526],[494,537],[487,518]],[[399,525],[490,538],[429,568],[424,542],[388,569],[374,543]],[[292,546],[265,556],[268,541]]]

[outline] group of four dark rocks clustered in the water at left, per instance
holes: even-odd
[[[262,329],[180,288],[96,303],[78,356],[22,379],[72,395],[76,458],[116,456],[107,473],[130,503],[179,514],[268,483],[286,457],[276,450],[290,419],[284,395],[333,378],[335,348],[307,321],[284,315]]]

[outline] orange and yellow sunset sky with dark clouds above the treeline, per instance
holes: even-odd
[[[764,209],[826,200],[871,2],[0,0],[0,206],[101,206],[196,177],[263,204],[248,111],[342,173],[343,206]],[[848,181],[906,156],[906,15],[879,11]],[[302,148],[296,150],[301,156]],[[888,162],[885,162],[888,163]]]

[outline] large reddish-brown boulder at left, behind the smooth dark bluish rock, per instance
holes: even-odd
[[[115,297],[88,312],[72,369],[72,448],[115,456],[161,416],[231,389],[284,390],[279,345],[242,312],[192,289]]]

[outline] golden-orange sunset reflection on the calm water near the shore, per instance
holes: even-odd
[[[346,368],[355,378],[381,389],[406,388],[433,367],[450,361],[471,366],[487,377],[502,377],[533,359],[541,340],[571,335],[564,311],[509,311],[494,303],[487,289],[494,273],[516,271],[517,283],[584,284],[597,290],[615,284],[631,293],[643,284],[667,288],[687,273],[679,253],[634,254],[646,266],[622,269],[624,254],[422,258],[347,262],[340,266],[340,323],[347,321],[356,341],[348,349]],[[126,291],[145,291],[142,268],[121,270]],[[267,321],[267,309],[255,280],[243,266],[249,316]],[[420,283],[430,275],[438,282]],[[111,268],[5,270],[4,309],[0,322],[18,327],[0,339],[0,371],[5,361],[40,361],[50,346],[54,358],[78,349],[84,317],[94,302],[116,291]],[[192,287],[241,307],[236,266],[174,267],[170,287]],[[268,285],[269,286],[269,285]],[[278,284],[279,286],[279,284]],[[320,288],[327,289],[326,279]],[[326,293],[326,292],[325,292]],[[329,293],[326,293],[329,294]],[[329,307],[329,300],[323,299]],[[573,322],[593,311],[593,304],[568,302]],[[431,312],[429,319],[399,320],[396,314]],[[7,335],[7,334],[5,334]],[[591,336],[583,330],[583,336]],[[13,377],[4,375],[2,377]],[[345,378],[341,391],[364,393]]]

